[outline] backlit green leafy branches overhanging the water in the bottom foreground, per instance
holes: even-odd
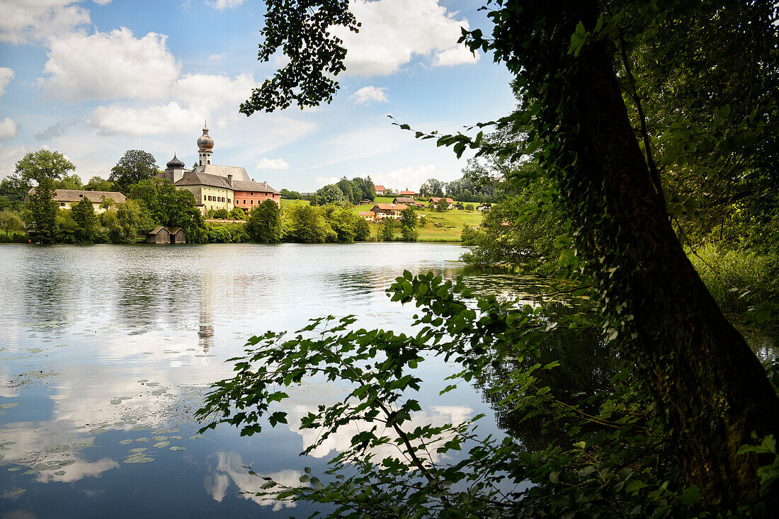
[[[201,433],[224,423],[241,429],[241,436],[261,433],[266,421],[286,424],[287,412],[274,403],[290,398],[287,391],[301,383],[324,377],[348,387],[345,398],[319,406],[299,425],[316,432],[308,454],[345,425],[360,424],[349,447],[329,462],[326,479],[308,469],[297,487],[266,478],[258,495],[335,503],[329,517],[694,514],[698,489],[664,479],[671,467],[645,455],[655,452],[659,440],[654,412],[625,383],[629,372],[619,372],[608,392],[559,400],[540,382],[558,369],[557,362],[538,362],[542,344],[555,334],[541,309],[494,296],[469,304],[464,284],[432,273],[405,272],[388,292],[420,309],[416,334],[356,330],[353,317],[328,316],[294,337],[252,337],[245,355],[231,359],[234,378],[213,384],[197,413],[210,421]],[[558,333],[576,333],[581,326],[572,320]],[[551,419],[566,433],[534,452],[511,436],[476,434],[481,416],[460,424],[414,424],[421,411],[414,395],[424,387],[418,367],[436,357],[461,366],[442,394],[480,380],[495,395],[499,412]],[[506,376],[489,378],[500,366],[508,369]]]

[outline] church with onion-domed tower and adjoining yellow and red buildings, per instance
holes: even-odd
[[[203,135],[197,139],[198,165],[192,170],[173,155],[165,164],[165,171],[159,178],[167,178],[176,189],[186,189],[195,196],[195,204],[205,216],[210,210],[240,207],[247,213],[265,200],[273,200],[281,205],[281,193],[267,182],[255,182],[249,178],[245,168],[221,166],[211,163],[213,139],[208,134],[208,125],[203,127]]]

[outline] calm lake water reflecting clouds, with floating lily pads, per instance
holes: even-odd
[[[306,466],[323,471],[351,433],[298,457],[314,433],[297,424],[341,390],[309,383],[288,391],[290,426],[260,436],[223,428],[199,437],[192,414],[206,387],[231,376],[224,360],[264,330],[296,330],[329,313],[407,329],[414,308],[384,290],[404,269],[452,277],[461,250],[3,245],[0,517],[307,516],[302,504],[241,494],[263,483],[244,466],[290,484]],[[516,277],[497,278],[491,288],[512,284]],[[420,420],[490,413],[471,387],[438,397],[453,368],[430,364]],[[494,420],[481,428],[497,432]]]

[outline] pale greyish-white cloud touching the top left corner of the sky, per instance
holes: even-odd
[[[0,41],[40,43],[90,23],[90,12],[73,0],[0,0]]]

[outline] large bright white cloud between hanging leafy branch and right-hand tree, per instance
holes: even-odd
[[[455,13],[447,12],[439,0],[351,0],[350,9],[362,23],[360,32],[332,29],[347,48],[349,74],[391,74],[414,55],[433,55],[433,65],[454,65],[460,27],[469,26],[467,19],[455,19]]]

